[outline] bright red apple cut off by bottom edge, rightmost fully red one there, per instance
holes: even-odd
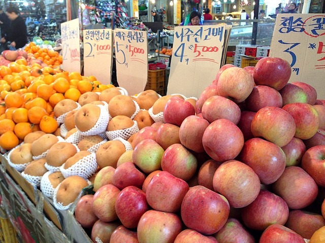
[[[304,238],[295,231],[280,225],[267,227],[259,238],[259,243],[305,243]]]

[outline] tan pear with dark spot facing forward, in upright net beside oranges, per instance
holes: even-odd
[[[76,128],[86,132],[93,128],[101,115],[101,108],[94,104],[85,104],[76,113]]]

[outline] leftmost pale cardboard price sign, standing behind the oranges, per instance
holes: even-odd
[[[69,72],[79,72],[80,62],[80,30],[79,19],[61,23],[62,68]]]

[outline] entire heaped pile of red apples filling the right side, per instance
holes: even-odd
[[[325,242],[325,100],[290,75],[275,57],[227,64],[195,107],[170,98],[76,220],[111,243]]]

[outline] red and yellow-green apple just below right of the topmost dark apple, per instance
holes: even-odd
[[[307,93],[293,84],[286,84],[279,93],[282,97],[283,106],[291,103],[308,103]]]

